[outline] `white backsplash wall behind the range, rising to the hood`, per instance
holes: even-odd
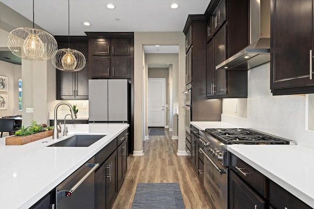
[[[248,98],[237,100],[240,111],[247,111],[246,118],[237,117],[226,106],[233,107],[235,100],[223,99],[222,121],[248,127],[294,140],[297,144],[314,149],[314,131],[307,130],[307,118],[314,112],[306,108],[308,97],[313,95],[272,96],[270,92],[270,65],[248,71]]]

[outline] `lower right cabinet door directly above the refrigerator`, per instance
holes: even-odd
[[[111,77],[131,78],[130,57],[111,56]]]

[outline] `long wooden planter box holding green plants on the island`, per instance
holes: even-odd
[[[34,133],[28,136],[8,136],[5,138],[5,145],[23,145],[39,139],[43,139],[52,136],[52,131],[42,131],[39,133]]]

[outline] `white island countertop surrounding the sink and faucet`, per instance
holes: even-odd
[[[128,124],[68,124],[59,133],[25,145],[5,145],[0,138],[0,209],[32,206],[84,162],[129,127]],[[63,129],[63,126],[61,126]],[[105,134],[89,147],[46,147],[75,134]]]

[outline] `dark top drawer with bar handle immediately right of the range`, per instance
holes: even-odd
[[[234,155],[231,155],[230,167],[263,197],[267,197],[267,179],[265,176]]]

